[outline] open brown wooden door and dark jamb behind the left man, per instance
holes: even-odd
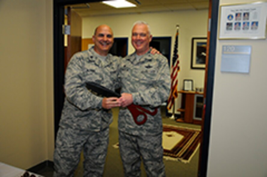
[[[59,128],[61,110],[63,108],[63,102],[65,99],[65,70],[72,55],[78,51],[81,51],[81,17],[76,12],[72,11],[70,7],[58,6],[58,8],[59,9],[56,12],[58,12],[58,16],[61,17],[57,18],[57,23],[55,22],[55,26],[57,28],[57,34],[55,34],[55,36],[57,36],[59,39],[54,41],[54,87],[58,88],[57,92],[55,92],[55,139]],[[65,25],[65,28],[66,26],[69,26],[69,34],[62,35],[62,24]],[[57,45],[58,42],[59,44]],[[63,44],[61,42],[63,42]]]

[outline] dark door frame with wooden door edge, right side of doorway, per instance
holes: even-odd
[[[204,80],[204,104],[201,122],[201,143],[198,162],[198,176],[207,175],[207,156],[210,136],[210,114],[212,104],[214,63],[216,50],[216,31],[219,2],[209,0],[208,30],[207,30],[207,50],[206,67]],[[206,120],[205,120],[206,119]]]

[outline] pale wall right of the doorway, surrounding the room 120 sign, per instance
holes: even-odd
[[[250,73],[220,72],[222,45],[251,45]],[[266,39],[217,40],[207,176],[267,176],[266,46]]]

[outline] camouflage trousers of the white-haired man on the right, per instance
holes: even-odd
[[[165,176],[162,134],[135,136],[119,132],[124,176],[141,176],[141,157],[148,177]]]

